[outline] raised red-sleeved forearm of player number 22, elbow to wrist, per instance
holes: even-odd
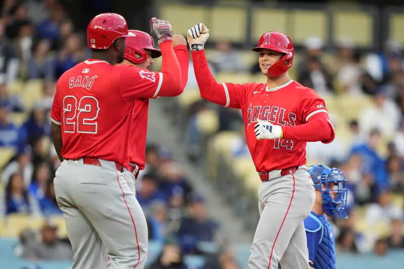
[[[171,40],[160,43],[163,57],[161,73],[163,82],[159,96],[177,96],[183,92],[181,69],[175,56]]]

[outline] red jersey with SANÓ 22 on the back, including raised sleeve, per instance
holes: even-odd
[[[90,59],[60,77],[51,118],[61,125],[63,158],[88,156],[127,165],[133,100],[182,92],[172,42],[160,47],[171,62],[166,73]]]

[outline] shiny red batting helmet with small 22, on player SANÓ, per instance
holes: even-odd
[[[87,26],[89,48],[106,49],[119,37],[128,36],[126,20],[116,13],[103,13],[95,16]]]

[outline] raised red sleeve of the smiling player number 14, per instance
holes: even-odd
[[[196,82],[202,98],[225,107],[241,109],[245,102],[244,84],[219,84],[209,69],[205,50],[192,51],[192,61]]]

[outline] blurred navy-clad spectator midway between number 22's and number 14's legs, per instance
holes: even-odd
[[[208,218],[205,198],[196,193],[191,193],[188,198],[189,216],[184,217],[177,235],[180,240],[191,237],[196,242],[214,242],[219,225]]]

